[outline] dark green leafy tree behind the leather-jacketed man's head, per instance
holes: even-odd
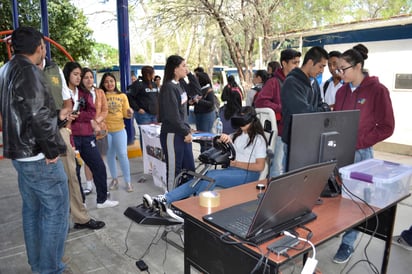
[[[2,1],[0,9],[0,30],[13,29],[12,1]],[[40,1],[19,0],[19,25],[41,29]],[[62,45],[77,61],[87,60],[95,45],[93,31],[87,27],[87,18],[83,12],[69,0],[49,0],[49,34],[50,38]],[[1,60],[8,59],[5,45],[0,45]],[[63,66],[67,61],[62,53],[51,47],[53,60]]]

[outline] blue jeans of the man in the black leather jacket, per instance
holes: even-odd
[[[62,273],[69,229],[69,189],[63,163],[13,160],[23,201],[23,233],[32,272]]]

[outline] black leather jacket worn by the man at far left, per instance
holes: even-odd
[[[0,68],[3,154],[20,159],[43,153],[54,159],[66,146],[46,78],[27,57],[15,55]]]

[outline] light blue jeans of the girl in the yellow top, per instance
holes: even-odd
[[[131,183],[130,164],[127,156],[127,133],[125,129],[116,132],[109,132],[107,135],[107,164],[113,179],[117,178],[116,156],[120,162],[123,178],[126,183]]]

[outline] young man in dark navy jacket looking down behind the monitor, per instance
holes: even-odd
[[[322,102],[316,77],[323,73],[328,53],[321,47],[313,47],[305,54],[301,68],[293,69],[285,79],[280,98],[282,102],[282,141],[289,145],[291,119],[293,114],[330,110]],[[285,155],[287,153],[285,146]],[[287,163],[287,156],[284,158]]]

